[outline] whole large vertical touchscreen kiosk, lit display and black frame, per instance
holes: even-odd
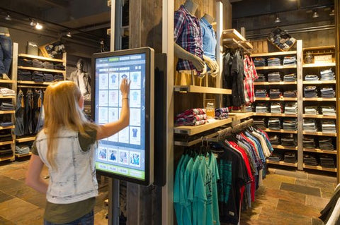
[[[153,181],[154,51],[148,47],[94,54],[93,119],[117,121],[122,107],[120,83],[130,84],[130,125],[99,140],[96,170],[120,180],[149,185]]]

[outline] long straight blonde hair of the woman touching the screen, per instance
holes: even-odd
[[[81,91],[73,81],[60,81],[49,85],[44,96],[45,123],[44,132],[47,135],[47,161],[52,168],[57,169],[55,154],[57,154],[56,137],[60,128],[69,128],[88,136],[85,128],[97,129],[96,124],[89,122],[81,108],[79,100]]]

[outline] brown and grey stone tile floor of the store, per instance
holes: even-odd
[[[0,224],[42,224],[45,196],[25,186],[28,161],[0,163]],[[47,169],[42,177],[47,176]],[[327,205],[336,178],[305,171],[269,169],[263,186],[256,190],[252,208],[242,212],[241,225],[322,224],[317,217]],[[95,224],[107,224],[104,200],[107,186],[100,188],[95,211]]]

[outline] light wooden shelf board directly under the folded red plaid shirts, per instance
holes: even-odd
[[[200,126],[176,126],[174,128],[174,133],[195,135],[196,133],[202,133],[225,124],[232,123],[232,118],[226,118],[222,120],[208,119],[208,123]]]

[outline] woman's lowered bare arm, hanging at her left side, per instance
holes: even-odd
[[[25,183],[27,186],[45,194],[47,192],[48,184],[40,177],[42,166],[44,166],[44,163],[41,161],[40,157],[32,154],[30,163],[28,164]]]

